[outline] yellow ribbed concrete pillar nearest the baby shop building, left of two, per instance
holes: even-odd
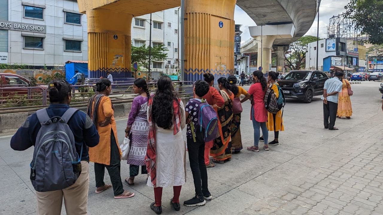
[[[90,78],[131,77],[131,23],[133,15],[107,9],[87,10],[88,72]]]

